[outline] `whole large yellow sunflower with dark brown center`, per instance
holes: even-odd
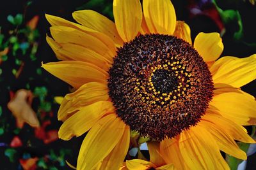
[[[255,143],[256,101],[240,87],[256,78],[256,55],[221,57],[220,34],[176,20],[169,0],[114,0],[115,23],[91,10],[79,23],[46,15],[59,62],[42,64],[74,87],[58,111],[59,137],[86,137],[77,169],[118,169],[130,131],[156,141],[177,169],[229,169],[221,151],[246,159],[235,140]],[[153,153],[151,155],[154,155]],[[129,160],[128,160],[129,161]]]

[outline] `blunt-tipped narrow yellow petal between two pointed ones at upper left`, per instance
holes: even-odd
[[[95,36],[72,27],[52,26],[50,28],[52,38],[58,43],[73,43],[84,46],[112,61],[116,54],[116,48],[111,47],[111,43],[105,44]]]

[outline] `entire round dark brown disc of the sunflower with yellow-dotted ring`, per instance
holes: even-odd
[[[213,96],[207,64],[186,41],[146,34],[118,49],[109,96],[132,130],[158,141],[196,125]]]

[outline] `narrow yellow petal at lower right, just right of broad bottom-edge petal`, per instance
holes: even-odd
[[[211,132],[212,137],[216,141],[220,150],[238,159],[243,159],[243,160],[247,159],[246,153],[243,152],[243,150],[241,150],[239,146],[237,146],[234,139],[229,134],[227,134],[227,132],[223,131],[223,129],[218,127],[216,124],[213,124],[212,122],[204,120],[204,117],[203,117],[202,121],[198,125],[200,125],[201,127],[204,127],[205,130]]]

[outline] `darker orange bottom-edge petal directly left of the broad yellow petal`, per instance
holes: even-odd
[[[160,152],[164,161],[168,164],[172,163],[177,169],[188,169],[184,159],[180,154],[179,136],[172,139],[164,139],[160,143]]]

